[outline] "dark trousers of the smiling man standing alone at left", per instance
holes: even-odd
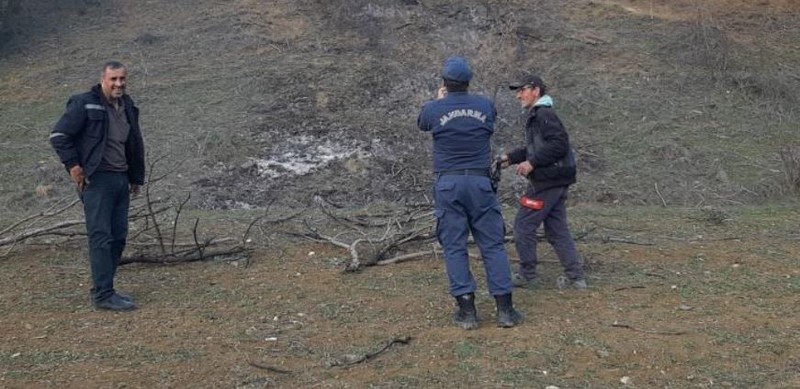
[[[114,275],[128,236],[128,184],[127,173],[97,172],[89,177],[81,196],[95,302],[114,294]]]

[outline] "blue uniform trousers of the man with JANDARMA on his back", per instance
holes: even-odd
[[[503,242],[505,224],[489,178],[440,176],[434,192],[436,235],[444,249],[450,294],[473,293],[477,287],[467,252],[470,232],[483,257],[489,292],[493,296],[511,293],[511,268]]]

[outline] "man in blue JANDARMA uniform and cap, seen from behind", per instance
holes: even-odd
[[[450,293],[458,304],[453,320],[467,330],[478,327],[476,284],[467,252],[472,232],[497,304],[497,325],[514,327],[523,316],[511,299],[505,224],[489,179],[497,111],[490,100],[468,93],[472,71],[466,59],[448,58],[442,78],[444,86],[436,100],[422,107],[417,124],[433,136],[436,235],[444,249]]]

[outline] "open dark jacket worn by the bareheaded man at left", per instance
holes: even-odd
[[[122,96],[125,116],[131,126],[125,142],[128,179],[131,184],[144,184],[144,141],[139,129],[139,108],[128,95]],[[50,144],[61,163],[69,170],[80,165],[87,177],[95,173],[108,139],[108,112],[100,84],[89,92],[70,97],[67,110],[50,134]]]

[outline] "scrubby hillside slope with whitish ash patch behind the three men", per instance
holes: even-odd
[[[68,190],[48,132],[115,58],[130,66],[151,160],[175,170],[167,189],[201,194],[199,206],[427,201],[430,139],[415,120],[451,54],[497,102],[498,152],[522,141],[507,80],[544,76],[579,151],[577,201],[785,195],[800,6],[694,3],[26,1],[2,35],[0,196],[19,209],[40,201],[37,185]]]

